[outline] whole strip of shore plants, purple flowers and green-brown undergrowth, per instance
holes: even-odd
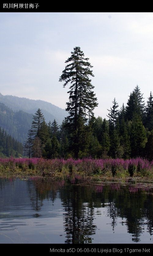
[[[0,177],[153,178],[153,161],[143,158],[0,158]]]

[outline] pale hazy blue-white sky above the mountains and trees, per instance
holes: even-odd
[[[65,108],[68,87],[58,82],[75,46],[93,66],[92,84],[106,117],[138,84],[153,91],[153,13],[1,13],[0,92]]]

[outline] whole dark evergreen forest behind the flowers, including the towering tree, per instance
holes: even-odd
[[[153,94],[145,104],[137,85],[126,106],[119,109],[114,98],[106,118],[94,117],[98,106],[89,76],[92,66],[75,47],[65,63],[59,81],[69,84],[69,116],[58,126],[56,120],[45,122],[41,109],[33,115],[24,151],[30,157],[44,158],[153,158]],[[149,94],[149,93],[148,93]]]

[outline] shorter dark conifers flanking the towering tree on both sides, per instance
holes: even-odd
[[[139,86],[130,94],[127,106],[119,109],[116,99],[108,110],[109,120],[92,116],[82,124],[78,157],[92,158],[153,158],[153,95],[146,105]],[[74,157],[73,134],[65,118],[45,122],[41,110],[33,115],[32,127],[24,144],[29,157]]]

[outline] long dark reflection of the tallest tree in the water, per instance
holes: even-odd
[[[65,208],[65,243],[91,243],[91,236],[97,227],[93,224],[94,207],[90,189],[87,186],[68,185],[60,191],[60,196]]]

